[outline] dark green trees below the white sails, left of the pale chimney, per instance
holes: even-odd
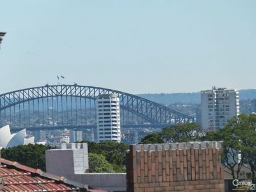
[[[1,157],[46,171],[46,150],[48,149],[52,147],[41,144],[18,145],[2,149]]]

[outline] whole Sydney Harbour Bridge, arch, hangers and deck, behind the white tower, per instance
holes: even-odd
[[[119,97],[121,127],[165,127],[194,118],[133,94],[80,85],[45,85],[0,95],[0,126],[12,131],[51,128],[95,128],[96,99]]]

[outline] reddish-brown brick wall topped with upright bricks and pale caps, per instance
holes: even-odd
[[[221,142],[130,145],[127,191],[224,191]]]

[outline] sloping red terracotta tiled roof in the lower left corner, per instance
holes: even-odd
[[[1,158],[0,191],[91,191],[87,185],[82,185],[65,177],[55,176],[40,169],[20,165],[18,162]]]

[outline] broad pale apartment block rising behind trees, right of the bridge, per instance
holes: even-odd
[[[201,91],[201,124],[203,128],[218,130],[239,113],[238,91],[215,86],[212,90]]]

